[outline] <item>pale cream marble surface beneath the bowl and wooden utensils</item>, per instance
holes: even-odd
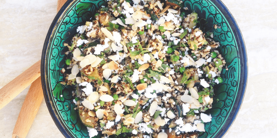
[[[222,0],[237,21],[247,49],[243,104],[224,138],[275,137],[277,132],[277,1]],[[57,0],[0,0],[0,88],[41,58]],[[0,137],[10,138],[29,87],[0,109]],[[27,138],[62,138],[43,100]]]

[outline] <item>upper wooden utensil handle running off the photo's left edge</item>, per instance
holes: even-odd
[[[40,76],[40,60],[0,89],[0,109]]]

